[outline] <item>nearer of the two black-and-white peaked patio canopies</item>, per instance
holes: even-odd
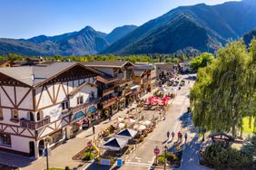
[[[119,151],[119,150],[123,149],[124,146],[127,146],[127,143],[128,143],[127,138],[114,137],[114,138],[109,139],[101,147],[108,151]]]

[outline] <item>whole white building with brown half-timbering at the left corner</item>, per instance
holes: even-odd
[[[76,62],[0,69],[0,149],[37,158],[97,109],[99,71]],[[89,124],[89,122],[88,122]]]

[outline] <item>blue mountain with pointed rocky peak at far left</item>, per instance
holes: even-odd
[[[22,55],[86,55],[103,51],[109,43],[106,33],[96,32],[86,26],[79,32],[56,36],[39,35],[27,40],[0,39],[0,54],[17,53]]]

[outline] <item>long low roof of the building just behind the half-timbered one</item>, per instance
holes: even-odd
[[[130,63],[130,61],[88,61],[82,62],[85,66],[88,67],[104,67],[104,68],[122,68],[125,64]]]

